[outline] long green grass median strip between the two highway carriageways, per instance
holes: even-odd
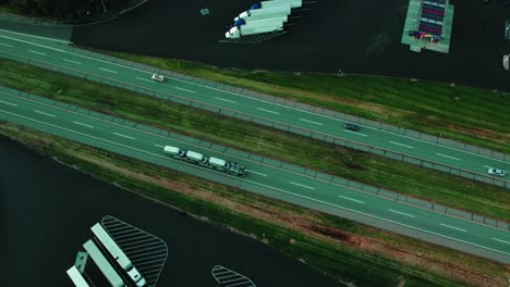
[[[126,90],[0,60],[0,85],[385,187],[493,217],[510,219],[510,192],[416,165],[248,125]],[[100,90],[100,92],[98,92]],[[409,179],[412,178],[412,179]]]

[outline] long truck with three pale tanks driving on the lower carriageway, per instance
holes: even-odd
[[[236,162],[229,162],[222,159],[207,157],[192,150],[185,150],[172,146],[165,146],[163,151],[168,154],[171,154],[177,160],[207,166],[209,169],[241,177],[244,177],[245,175],[246,167],[244,165],[238,164]]]

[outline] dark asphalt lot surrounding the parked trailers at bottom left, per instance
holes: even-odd
[[[224,228],[114,188],[0,137],[2,286],[72,286],[65,271],[110,214],[163,239],[158,286],[215,286],[220,264],[257,286],[338,286],[296,260]]]

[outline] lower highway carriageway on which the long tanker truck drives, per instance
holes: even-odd
[[[331,214],[354,214],[368,219],[365,222],[374,226],[387,229],[397,227],[403,229],[403,234],[510,263],[510,233],[507,230],[402,204],[259,161],[222,154],[190,142],[121,125],[110,116],[100,120],[0,92],[0,121],[28,126]],[[247,166],[247,175],[245,178],[238,178],[173,160],[162,152],[166,145],[239,162]]]

